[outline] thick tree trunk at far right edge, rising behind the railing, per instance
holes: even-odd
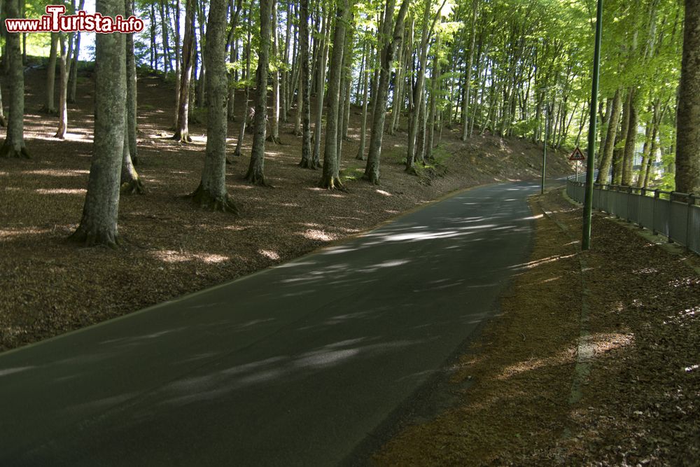
[[[675,132],[675,189],[700,194],[700,2],[685,0]]]

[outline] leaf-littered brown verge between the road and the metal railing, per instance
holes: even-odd
[[[531,209],[531,260],[500,316],[374,463],[700,465],[699,258],[603,214],[581,253],[561,189]]]

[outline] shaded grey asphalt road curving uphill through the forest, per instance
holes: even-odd
[[[347,461],[498,309],[537,183],[0,354],[0,466]]]

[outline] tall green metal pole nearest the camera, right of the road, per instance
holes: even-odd
[[[591,247],[591,214],[593,211],[593,172],[596,158],[596,109],[598,109],[598,76],[601,71],[601,40],[603,38],[603,0],[598,0],[596,20],[596,52],[593,58],[591,86],[591,121],[588,125],[588,160],[586,161],[586,195],[583,202],[583,238],[581,249]]]

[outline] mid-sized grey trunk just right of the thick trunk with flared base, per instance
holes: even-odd
[[[260,0],[260,49],[258,71],[255,73],[255,117],[253,121],[253,148],[246,180],[256,185],[270,186],[265,180],[265,134],[267,134],[267,74],[272,25],[272,3],[275,0]]]

